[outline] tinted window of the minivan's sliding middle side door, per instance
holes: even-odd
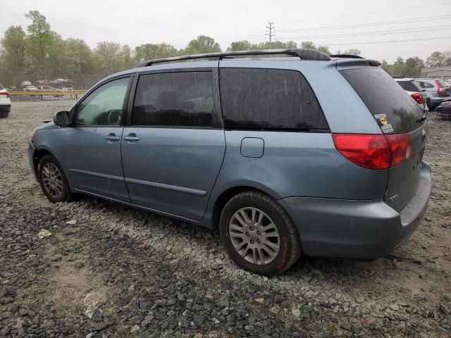
[[[141,75],[132,125],[214,127],[211,72]]]

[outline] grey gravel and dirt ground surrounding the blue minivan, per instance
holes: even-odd
[[[0,120],[0,337],[451,336],[450,121],[428,118],[433,194],[400,249],[268,278],[233,265],[218,232],[87,196],[50,204],[27,142],[71,104],[13,102]]]

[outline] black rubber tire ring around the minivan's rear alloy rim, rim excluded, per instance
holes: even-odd
[[[241,208],[257,208],[259,211],[263,211],[263,213],[268,215],[273,224],[276,225],[280,237],[280,249],[276,258],[270,263],[261,265],[251,263],[245,260],[245,258],[235,250],[229,235],[229,225],[235,212],[239,211]],[[247,191],[233,196],[223,208],[219,227],[221,239],[224,246],[226,246],[230,258],[232,258],[232,260],[241,268],[251,271],[252,273],[258,273],[259,275],[275,275],[283,273],[296,263],[302,252],[299,233],[292,223],[290,216],[275,199],[272,199],[262,192]]]

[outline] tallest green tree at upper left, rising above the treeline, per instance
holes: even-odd
[[[54,48],[56,33],[51,32],[50,25],[44,15],[38,11],[30,11],[25,18],[31,20],[28,25],[28,42],[34,70],[45,73],[49,64],[51,49]]]

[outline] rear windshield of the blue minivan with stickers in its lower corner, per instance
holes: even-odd
[[[423,115],[416,101],[382,68],[341,70],[385,134],[412,132]]]

